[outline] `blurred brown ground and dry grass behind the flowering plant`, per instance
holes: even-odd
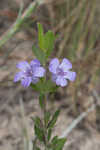
[[[16,21],[21,5],[24,12],[31,2],[0,0],[0,37]],[[50,29],[58,35],[51,57],[70,59],[77,72],[74,83],[49,96],[48,109],[59,107],[62,110],[54,134],[61,135],[72,120],[97,104],[95,111],[68,137],[65,150],[99,150],[100,0],[46,0],[23,23],[19,32],[0,47],[0,150],[24,149],[23,128],[32,139],[30,118],[41,115],[38,93],[13,83],[16,63],[35,58],[32,45],[37,43],[37,22],[43,24],[45,32]],[[21,113],[20,101],[23,101],[24,113]]]

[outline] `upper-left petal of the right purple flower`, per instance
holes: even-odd
[[[59,60],[57,58],[52,59],[49,64],[49,71],[56,74],[56,69],[58,66],[59,66]]]

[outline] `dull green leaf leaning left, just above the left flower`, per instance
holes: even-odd
[[[46,55],[43,51],[41,51],[39,48],[35,47],[34,45],[32,46],[32,51],[42,65],[46,63]]]

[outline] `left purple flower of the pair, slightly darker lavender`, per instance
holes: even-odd
[[[18,63],[16,67],[21,71],[16,73],[14,82],[21,80],[21,84],[25,88],[31,83],[37,83],[39,78],[43,77],[45,74],[45,69],[41,67],[37,59],[32,60],[30,64],[27,61],[22,61]]]

